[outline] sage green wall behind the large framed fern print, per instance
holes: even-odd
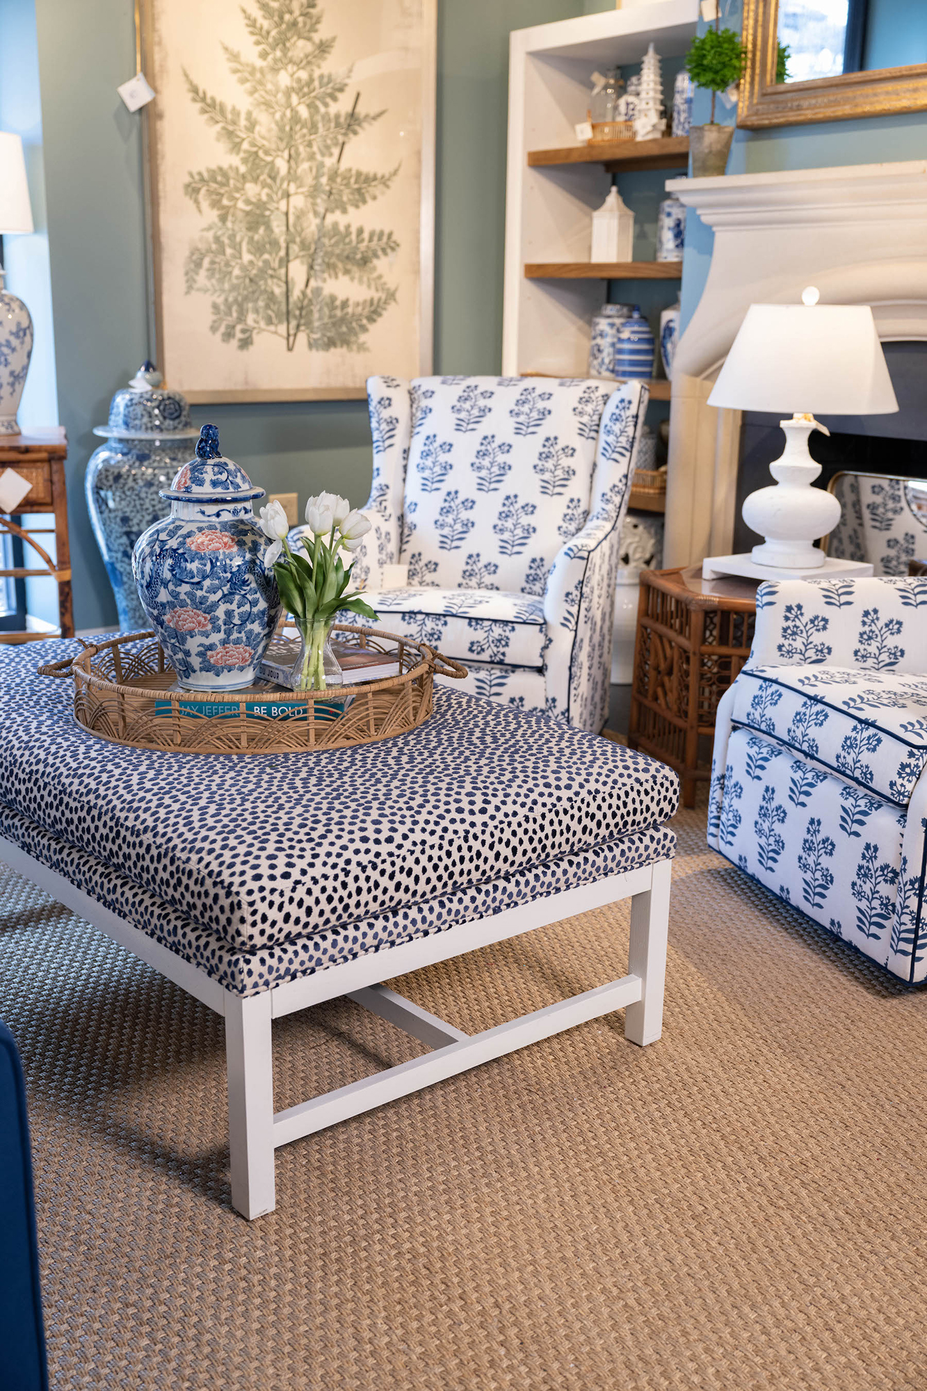
[[[116,88],[135,65],[128,0],[35,0],[42,82],[58,415],[78,629],[116,622],[84,501],[111,394],[148,351],[139,117]],[[334,11],[337,0],[327,0]],[[501,366],[508,35],[583,11],[582,0],[440,0],[436,370]],[[323,487],[356,502],[370,483],[363,402],[200,406],[232,458],[273,491]]]

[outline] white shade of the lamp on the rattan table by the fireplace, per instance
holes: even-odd
[[[750,305],[710,406],[870,416],[898,410],[869,305]]]

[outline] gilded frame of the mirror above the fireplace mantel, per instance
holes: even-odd
[[[738,125],[759,131],[770,125],[927,111],[927,63],[845,72],[814,82],[775,82],[777,18],[778,0],[743,0],[746,67]]]

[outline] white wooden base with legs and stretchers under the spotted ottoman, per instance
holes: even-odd
[[[653,1043],[663,1028],[670,860],[536,899],[489,918],[462,922],[445,932],[415,938],[246,997],[227,990],[199,967],[168,951],[4,837],[0,837],[0,860],[224,1015],[231,1199],[232,1206],[249,1219],[273,1212],[276,1206],[274,1150],[278,1145],[288,1145],[612,1010],[625,1010],[625,1038],[632,1043]],[[393,979],[622,899],[631,899],[628,975],[482,1034],[464,1034],[380,983],[384,975]],[[344,995],[427,1043],[431,1052],[274,1114],[271,1021]]]

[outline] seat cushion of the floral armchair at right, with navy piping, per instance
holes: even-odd
[[[753,666],[734,723],[906,807],[927,762],[927,676],[859,666]]]

